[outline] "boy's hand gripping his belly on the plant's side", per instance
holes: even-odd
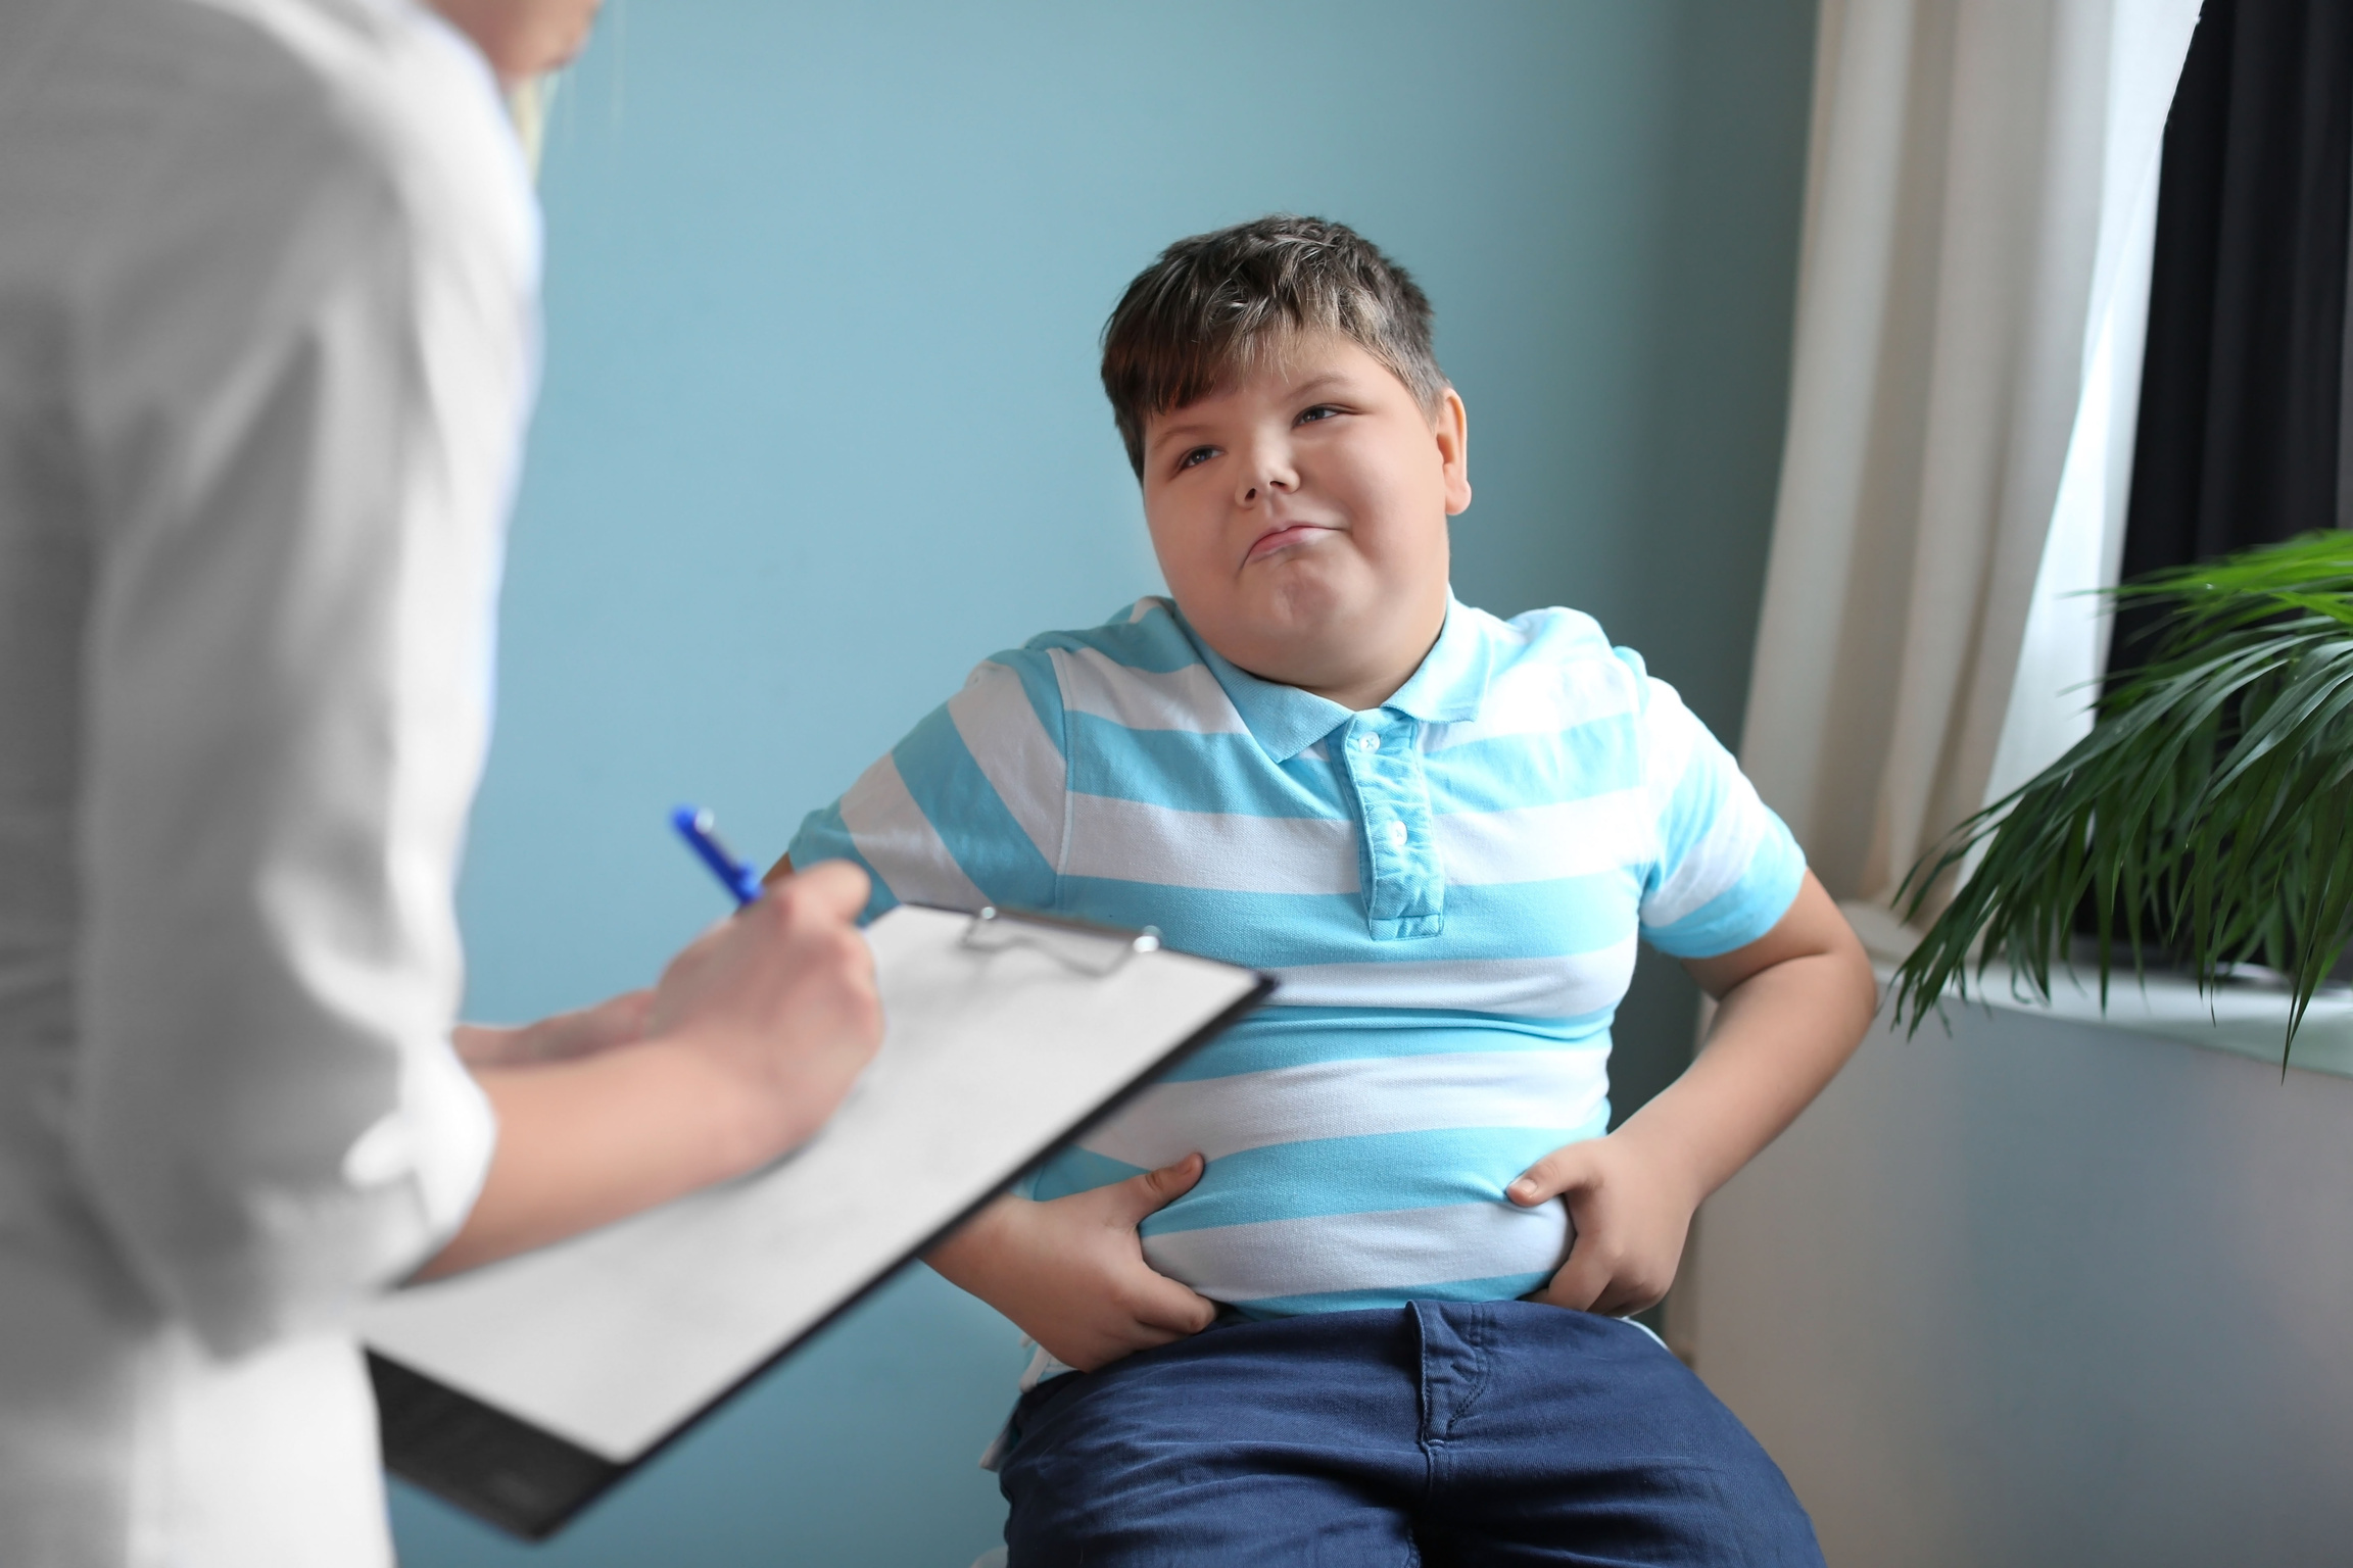
[[[1569,1204],[1569,1258],[1532,1300],[1624,1316],[1657,1305],[1675,1284],[1701,1194],[1678,1161],[1628,1140],[1628,1131],[1553,1150],[1504,1190],[1522,1208],[1555,1197]]]

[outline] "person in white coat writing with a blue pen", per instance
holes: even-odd
[[[593,9],[0,5],[7,1568],[388,1563],[353,1307],[753,1168],[875,1048],[842,867],[452,1030],[534,374],[499,78]]]

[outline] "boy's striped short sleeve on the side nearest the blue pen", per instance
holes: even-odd
[[[984,661],[849,790],[802,820],[793,865],[854,860],[866,917],[899,903],[1054,907],[1068,818],[1064,708],[1035,649]]]

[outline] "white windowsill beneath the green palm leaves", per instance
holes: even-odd
[[[1842,905],[1864,947],[1871,950],[1871,966],[1880,976],[1880,987],[1889,983],[1897,964],[1911,950],[1908,933],[1885,910],[1868,905]],[[1946,1006],[1962,1004],[1958,997]],[[2268,1067],[2280,1065],[2280,1046],[2287,1039],[2287,992],[2271,985],[2242,985],[2226,980],[2212,994],[2200,997],[2198,985],[2177,973],[2151,973],[2134,978],[2129,969],[2108,976],[2108,1006],[2099,1006],[2099,971],[2054,969],[2052,997],[2045,1001],[2031,985],[2014,976],[2007,964],[1986,969],[1984,980],[1969,971],[1969,997],[1965,1006],[1993,1006],[2014,1013],[2038,1013],[2042,1018],[2066,1018],[2127,1034],[2155,1034],[2179,1039],[2207,1051],[2245,1056]],[[2297,1030],[2289,1067],[2304,1072],[2332,1072],[2353,1079],[2353,994],[2327,990],[2313,997],[2304,1011],[2304,1027]]]

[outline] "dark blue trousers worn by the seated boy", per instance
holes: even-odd
[[[1014,1427],[1009,1568],[1821,1568],[1788,1481],[1689,1368],[1541,1302],[1224,1321],[1040,1385]]]

